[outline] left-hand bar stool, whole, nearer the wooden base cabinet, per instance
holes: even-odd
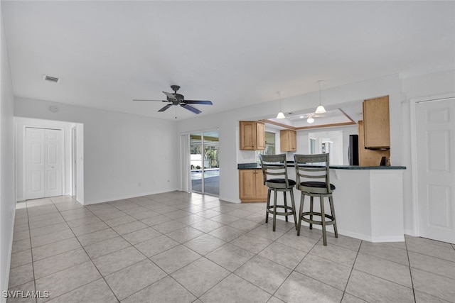
[[[264,185],[268,187],[267,191],[267,209],[265,211],[265,222],[269,221],[269,214],[273,214],[273,231],[277,225],[277,215],[294,216],[294,224],[297,229],[296,207],[294,203],[294,186],[296,182],[287,177],[287,162],[286,155],[259,155],[262,167],[262,177],[264,178]],[[274,202],[270,205],[270,196],[274,192]],[[284,205],[277,205],[277,192],[283,192]],[[287,206],[286,193],[291,194],[292,206]],[[283,211],[277,211],[283,209]]]

